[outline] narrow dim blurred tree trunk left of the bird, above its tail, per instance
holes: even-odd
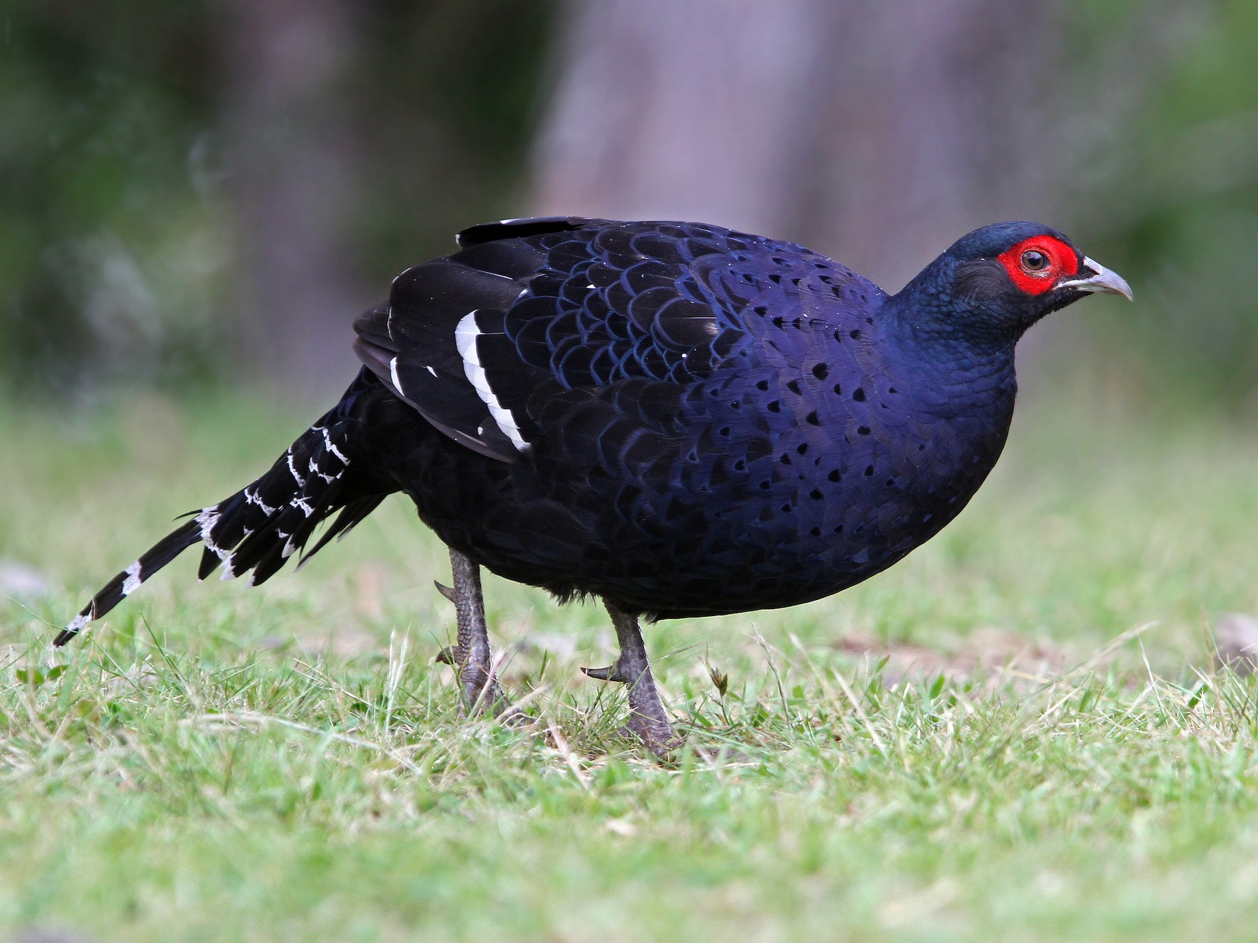
[[[350,275],[352,10],[347,0],[237,0],[226,25],[243,358],[294,396],[350,382],[351,318],[375,297]]]

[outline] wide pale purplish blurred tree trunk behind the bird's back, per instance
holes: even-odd
[[[1060,220],[1055,3],[584,0],[540,212],[804,241],[889,290],[965,231]]]

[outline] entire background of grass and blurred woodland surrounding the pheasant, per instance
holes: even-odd
[[[403,495],[50,648],[331,405],[399,272],[527,214],[888,290],[1039,219],[1135,303],[1034,328],[1005,455],[902,563],[645,626],[728,772],[609,747],[606,615],[492,575],[572,751],[462,728]],[[1255,469],[1258,0],[3,0],[0,938],[1252,939],[1258,679],[1211,666],[1258,664]]]

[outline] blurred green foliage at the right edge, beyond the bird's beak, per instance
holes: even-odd
[[[1096,135],[1072,175],[1081,225],[1098,234],[1092,251],[1127,275],[1138,304],[1136,318],[1096,324],[1098,347],[1144,390],[1252,410],[1258,8],[1245,0],[1081,6],[1084,16],[1108,11],[1103,39],[1087,55],[1125,63],[1138,103],[1132,119]],[[1167,21],[1175,28],[1166,30]]]

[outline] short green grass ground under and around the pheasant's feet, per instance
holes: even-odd
[[[649,627],[693,742],[649,761],[594,607],[487,581],[541,733],[460,722],[440,547],[390,502],[258,590],[172,565],[52,629],[307,416],[10,412],[0,928],[109,940],[1249,939],[1258,435],[1042,397],[940,538],[838,597]],[[248,424],[240,422],[248,416]],[[722,694],[712,671],[727,676]],[[554,736],[557,733],[557,736]]]

